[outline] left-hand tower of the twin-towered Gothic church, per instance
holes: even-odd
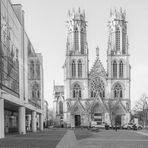
[[[88,47],[85,12],[68,12],[66,60],[64,64],[64,120],[80,126],[88,99]],[[72,125],[73,124],[73,125]]]

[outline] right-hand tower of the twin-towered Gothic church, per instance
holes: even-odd
[[[107,50],[108,98],[114,103],[115,122],[130,120],[130,64],[126,13],[122,9],[110,11]]]

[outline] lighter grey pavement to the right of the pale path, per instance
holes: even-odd
[[[79,140],[81,148],[148,148],[148,136],[130,130],[100,130]]]

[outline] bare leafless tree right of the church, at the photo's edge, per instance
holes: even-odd
[[[143,126],[145,127],[148,114],[148,96],[146,94],[143,94],[140,99],[136,101],[133,110],[140,116]]]

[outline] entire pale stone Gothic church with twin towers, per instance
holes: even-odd
[[[70,127],[123,125],[130,121],[130,63],[126,13],[111,10],[108,23],[107,70],[99,58],[89,70],[85,12],[68,12],[64,86],[54,85],[57,122]]]

